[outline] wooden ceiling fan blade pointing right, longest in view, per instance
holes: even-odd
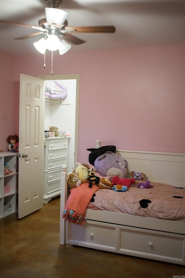
[[[66,26],[65,29],[75,29],[75,32],[71,33],[114,33],[116,28],[113,25],[110,26]]]

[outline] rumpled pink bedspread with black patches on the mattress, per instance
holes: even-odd
[[[126,192],[99,189],[89,208],[185,222],[185,188],[151,184],[153,188],[129,187]]]

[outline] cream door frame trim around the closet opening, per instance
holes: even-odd
[[[75,107],[75,149],[74,149],[74,164],[78,161],[78,131],[79,131],[79,74],[60,74],[60,75],[38,75],[38,78],[43,80],[70,80],[76,79],[76,107]],[[74,165],[75,167],[75,165]]]

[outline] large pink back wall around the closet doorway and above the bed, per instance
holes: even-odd
[[[50,74],[51,56],[45,69],[43,59],[15,57],[15,109],[20,73]],[[183,45],[54,53],[53,73],[80,74],[79,162],[97,139],[117,149],[185,152]]]

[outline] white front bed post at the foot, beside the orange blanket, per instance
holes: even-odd
[[[67,166],[62,166],[61,191],[60,191],[60,244],[66,243],[66,221],[62,218],[64,206],[67,200]]]

